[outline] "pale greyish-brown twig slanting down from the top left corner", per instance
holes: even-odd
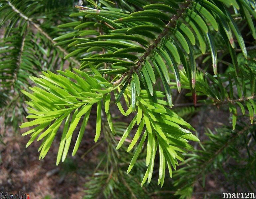
[[[18,13],[22,18],[24,18],[25,20],[29,21],[30,24],[32,24],[40,33],[42,33],[47,39],[49,39],[53,45],[55,45],[57,42],[55,42],[45,31],[43,31],[36,23],[34,23],[32,21],[31,18],[28,18],[27,16],[25,16],[24,14],[22,14],[17,8],[15,8],[14,5],[12,5],[12,3],[8,0],[6,0],[7,3],[9,4],[9,6],[11,6],[11,8],[16,12]],[[64,55],[68,55],[69,53],[64,49],[62,48],[61,46],[56,46],[60,51],[62,51],[64,53]],[[80,65],[79,61],[75,60],[74,58],[72,57],[69,57],[68,59],[70,59],[72,62],[74,62],[75,64],[77,64],[78,66]]]

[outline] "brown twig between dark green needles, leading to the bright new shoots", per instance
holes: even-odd
[[[183,3],[180,6],[179,10],[177,11],[177,14],[175,14],[173,16],[171,21],[166,25],[165,29],[162,31],[162,33],[160,33],[159,36],[157,37],[157,39],[149,46],[149,48],[146,50],[146,52],[143,54],[143,56],[139,59],[139,61],[135,64],[135,66],[133,66],[126,73],[124,73],[119,80],[117,80],[116,82],[112,82],[112,84],[120,84],[126,76],[128,76],[128,75],[131,76],[133,71],[140,67],[140,65],[144,62],[144,60],[150,55],[150,53],[154,50],[154,48],[159,44],[159,42],[162,40],[162,38],[164,38],[164,36],[170,31],[171,28],[175,27],[176,22],[182,16],[185,9],[189,6],[190,2],[191,2],[191,0],[187,0],[185,3]]]

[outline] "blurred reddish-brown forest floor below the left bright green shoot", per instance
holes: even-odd
[[[56,136],[46,157],[39,161],[40,142],[33,142],[25,148],[30,137],[22,137],[20,133],[14,135],[11,129],[7,130],[3,138],[6,146],[0,144],[0,192],[16,194],[23,191],[31,199],[81,199],[88,174],[87,164],[96,161],[93,157],[96,157],[97,150],[81,159],[82,154],[91,147],[88,143],[94,143],[93,134],[88,133],[90,130],[91,126],[88,124],[85,139],[77,154],[74,157],[69,154],[59,166],[56,166],[56,158],[61,132]]]

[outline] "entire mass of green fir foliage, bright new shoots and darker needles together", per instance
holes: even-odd
[[[147,198],[158,189],[152,188],[156,181],[162,187],[169,177],[174,177],[176,195],[190,198],[195,182],[204,187],[205,175],[214,169],[233,172],[224,165],[230,157],[245,162],[242,170],[254,182],[256,48],[240,31],[246,27],[247,36],[256,39],[254,0],[86,0],[74,5],[0,1],[0,26],[6,30],[0,42],[1,115],[14,127],[23,115],[28,118],[20,126],[33,126],[23,133],[31,137],[26,147],[42,141],[43,159],[64,125],[57,165],[64,162],[70,148],[76,154],[95,108],[94,141],[106,140],[102,161],[107,164],[100,162],[90,177],[86,198],[119,198],[122,192],[125,198]],[[225,66],[220,73],[219,64]],[[199,108],[175,108],[172,93],[182,89],[194,104],[226,105],[232,129],[207,130],[209,141],[200,143],[192,133],[196,129],[181,117]],[[112,107],[132,118],[127,126],[113,121]],[[194,150],[194,142],[201,149]],[[241,160],[237,146],[247,149],[247,158]],[[129,162],[127,173],[121,161]],[[156,170],[152,187],[137,186],[155,180]]]

